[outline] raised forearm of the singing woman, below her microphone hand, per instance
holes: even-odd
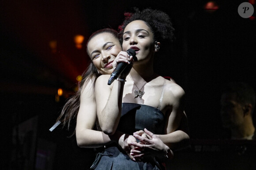
[[[105,134],[112,135],[117,129],[122,110],[123,89],[123,82],[114,81],[108,101],[98,116],[100,126]]]

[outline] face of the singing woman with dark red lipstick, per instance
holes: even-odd
[[[147,60],[154,54],[154,35],[142,20],[132,21],[124,29],[122,46],[134,49],[138,61]]]

